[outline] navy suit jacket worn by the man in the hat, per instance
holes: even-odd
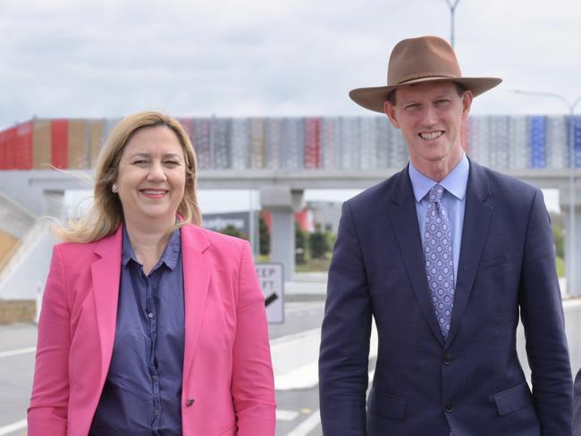
[[[525,326],[533,392],[518,363]],[[366,401],[372,317],[379,347]],[[319,357],[325,436],[570,436],[572,377],[543,194],[470,161],[442,339],[408,169],[343,205]]]

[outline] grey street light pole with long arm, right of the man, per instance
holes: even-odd
[[[523,91],[522,89],[512,89],[512,92],[522,96],[546,96],[550,98],[556,98],[564,103],[568,108],[568,146],[569,146],[569,171],[568,171],[568,227],[570,240],[570,249],[567,256],[570,256],[568,262],[568,268],[571,270],[568,272],[567,292],[569,295],[575,295],[574,291],[576,289],[577,283],[575,282],[575,268],[576,268],[576,229],[575,229],[575,130],[573,125],[573,115],[575,113],[575,108],[581,102],[581,96],[577,96],[573,103],[569,103],[568,99],[560,94],[555,94],[553,92],[537,92],[537,91]]]

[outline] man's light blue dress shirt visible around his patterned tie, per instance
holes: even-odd
[[[466,210],[466,189],[468,183],[468,173],[470,164],[465,154],[462,154],[460,162],[454,169],[437,182],[417,171],[414,164],[409,163],[409,179],[411,187],[414,189],[416,197],[417,223],[419,224],[419,234],[422,238],[422,247],[425,247],[424,221],[427,206],[430,201],[427,193],[436,184],[445,189],[442,204],[448,213],[450,220],[450,233],[452,235],[452,256],[454,260],[454,282],[458,279],[458,264],[460,258],[460,245],[462,243],[462,228],[464,226],[464,211]]]

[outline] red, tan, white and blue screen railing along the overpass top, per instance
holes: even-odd
[[[118,119],[33,119],[0,132],[0,169],[86,169]],[[408,152],[386,117],[181,118],[200,170],[378,170]],[[467,153],[498,169],[581,167],[581,116],[471,116]],[[573,152],[572,152],[573,150]]]

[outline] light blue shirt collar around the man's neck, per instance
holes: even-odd
[[[428,191],[436,184],[442,186],[443,189],[446,189],[459,200],[463,200],[466,196],[469,172],[470,164],[465,153],[462,153],[460,162],[440,182],[434,181],[419,172],[411,161],[408,169],[409,180],[411,180],[411,187],[414,190],[414,197],[416,197],[417,203],[422,201]]]

